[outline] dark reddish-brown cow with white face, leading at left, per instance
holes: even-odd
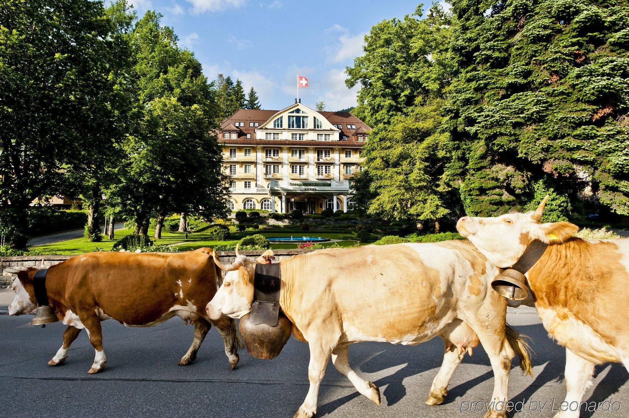
[[[227,316],[209,319],[205,312],[217,288],[212,255],[211,248],[187,253],[97,252],[75,256],[48,268],[48,301],[58,319],[68,326],[63,345],[48,364],[63,363],[70,344],[85,328],[96,350],[87,373],[97,373],[107,361],[101,321],[115,319],[125,326],[148,327],[179,316],[186,324],[194,322],[194,340],[179,365],[188,365],[196,358],[210,324],[214,324],[234,368],[238,363],[239,343],[235,321]],[[35,311],[36,272],[36,268],[17,272],[9,315]]]

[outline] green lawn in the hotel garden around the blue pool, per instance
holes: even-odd
[[[116,231],[114,234],[114,240],[110,241],[109,239],[104,239],[99,243],[91,243],[87,241],[85,238],[76,238],[69,239],[67,241],[61,241],[58,243],[47,244],[47,245],[39,245],[33,246],[30,248],[31,251],[36,251],[41,254],[63,254],[63,255],[75,255],[75,254],[83,254],[89,253],[91,251],[109,251],[113,247],[114,243],[118,241],[118,239],[123,238],[123,236],[130,234],[131,229],[121,229],[120,231]],[[155,231],[149,230],[148,233],[150,236],[153,236]],[[177,245],[177,250],[180,251],[189,251],[196,250],[201,247],[213,247],[215,245],[225,245],[225,244],[235,244],[240,241],[241,238],[247,235],[252,234],[262,234],[266,237],[269,236],[318,236],[322,238],[330,238],[330,239],[341,239],[343,236],[348,235],[347,233],[325,233],[321,231],[303,231],[301,233],[282,233],[279,231],[245,231],[238,232],[235,234],[231,234],[230,239],[227,241],[214,241],[207,231],[199,231],[196,233],[188,233],[188,238],[186,239],[185,233],[172,233],[172,232],[162,232],[162,239],[158,239],[155,241],[157,245],[174,245],[177,243],[184,243],[181,245]],[[355,245],[356,241],[338,241],[338,245],[342,247],[348,247]],[[333,243],[321,243],[323,246],[330,246]],[[284,249],[294,249],[297,248],[297,244],[290,243],[282,243],[282,244],[272,244],[271,248],[276,250],[284,250]]]

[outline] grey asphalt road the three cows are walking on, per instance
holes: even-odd
[[[103,322],[108,363],[103,372],[87,375],[94,349],[82,333],[68,360],[52,367],[65,327],[28,325],[30,316],[0,316],[0,416],[101,417],[201,416],[291,417],[308,392],[308,345],[291,339],[274,360],[257,360],[245,349],[230,370],[216,330],[210,331],[189,366],[177,362],[192,340],[192,327],[171,319],[152,328],[126,328]],[[536,314],[509,314],[508,321],[533,338],[535,377],[511,371],[509,394],[523,401],[514,417],[550,417],[551,403],[564,400],[564,350],[551,341]],[[359,375],[379,385],[382,406],[359,395],[347,378],[328,365],[320,389],[318,417],[482,417],[465,411],[464,402],[491,398],[493,373],[479,347],[465,356],[450,382],[443,405],[424,404],[442,360],[436,338],[415,347],[362,343],[350,347],[350,363]],[[515,363],[515,362],[514,362]],[[620,401],[618,412],[583,412],[581,417],[629,417],[629,375],[620,365],[596,368],[586,400]],[[548,402],[542,414],[532,402]],[[616,404],[618,407],[618,404]]]

